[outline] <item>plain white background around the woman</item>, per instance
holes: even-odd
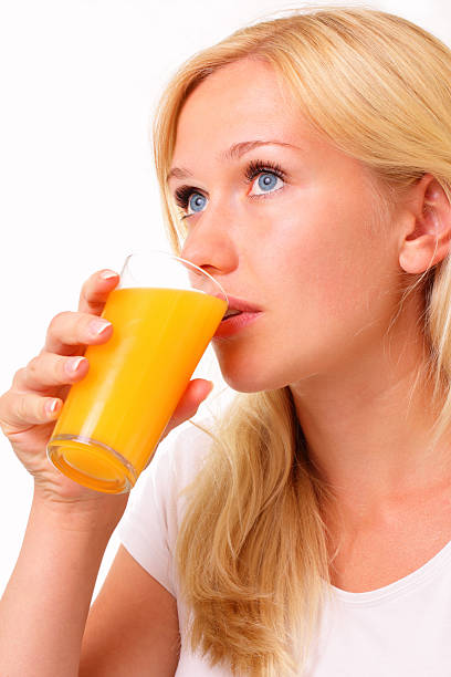
[[[448,0],[366,4],[401,14],[451,44]],[[177,65],[243,23],[296,6],[277,0],[0,1],[1,393],[41,350],[53,315],[76,310],[90,274],[120,270],[125,256],[137,249],[169,250],[148,127]],[[233,394],[212,348],[195,376],[216,382],[200,416]],[[1,435],[0,454],[1,594],[22,543],[32,480]],[[113,534],[94,596],[117,546]]]

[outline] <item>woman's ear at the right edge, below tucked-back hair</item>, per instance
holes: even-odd
[[[451,205],[439,181],[424,174],[409,191],[399,263],[408,273],[422,273],[450,252]]]

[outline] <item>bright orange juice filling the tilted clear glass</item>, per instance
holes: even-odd
[[[102,316],[113,336],[88,346],[49,444],[65,475],[117,493],[133,486],[157,447],[224,312],[199,291],[114,290]]]

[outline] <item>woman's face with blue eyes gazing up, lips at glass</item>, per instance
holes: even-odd
[[[369,226],[369,173],[314,133],[271,66],[243,60],[204,80],[180,114],[171,166],[181,256],[262,311],[213,338],[232,388],[321,376],[380,341],[397,251]]]

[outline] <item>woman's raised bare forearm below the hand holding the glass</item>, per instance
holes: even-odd
[[[0,601],[0,675],[75,677],[98,570],[112,534],[34,498]]]

